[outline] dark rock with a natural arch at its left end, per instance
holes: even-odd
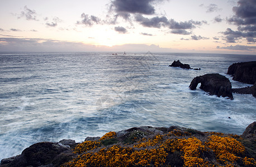
[[[200,89],[208,92],[210,95],[218,97],[229,97],[233,99],[232,86],[228,78],[219,73],[210,73],[193,78],[189,88],[195,90],[197,85],[201,83]]]

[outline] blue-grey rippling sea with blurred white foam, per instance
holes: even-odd
[[[183,70],[168,67],[174,60]],[[256,61],[255,55],[205,53],[1,53],[0,160],[40,141],[102,136],[134,126],[178,125],[242,134],[256,119],[255,97],[209,96],[188,86],[206,73]],[[231,119],[229,119],[231,117]]]

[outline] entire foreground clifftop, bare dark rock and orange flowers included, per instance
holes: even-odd
[[[31,145],[4,166],[255,166],[256,121],[243,135],[179,126],[133,127],[87,137]]]

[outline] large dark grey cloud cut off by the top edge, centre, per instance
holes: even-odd
[[[158,1],[160,0],[115,0],[111,3],[117,13],[154,14],[153,3]]]

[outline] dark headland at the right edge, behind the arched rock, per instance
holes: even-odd
[[[233,76],[233,80],[246,84],[256,82],[256,61],[234,63],[229,66],[227,74]]]

